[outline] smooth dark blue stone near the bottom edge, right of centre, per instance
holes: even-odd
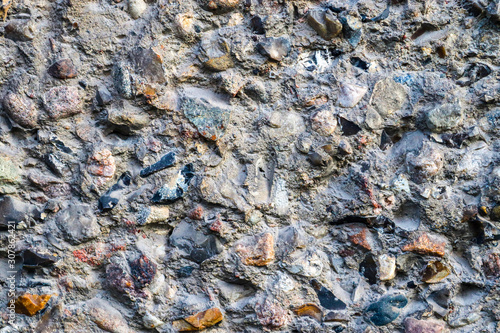
[[[370,321],[376,326],[387,325],[399,317],[400,310],[408,304],[403,295],[384,296],[377,302],[370,304],[365,310]]]

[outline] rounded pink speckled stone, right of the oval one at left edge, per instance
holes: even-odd
[[[45,110],[53,120],[82,112],[82,100],[75,86],[51,88],[44,95]]]

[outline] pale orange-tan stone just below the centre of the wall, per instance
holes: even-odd
[[[270,233],[257,236],[255,245],[236,246],[236,252],[240,255],[245,265],[265,266],[274,261],[274,237]]]

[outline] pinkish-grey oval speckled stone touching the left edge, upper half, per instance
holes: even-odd
[[[38,110],[30,99],[12,92],[3,99],[3,107],[9,117],[22,127],[38,126]]]

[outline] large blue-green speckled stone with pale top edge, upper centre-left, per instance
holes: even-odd
[[[226,132],[231,110],[221,96],[198,88],[189,89],[181,109],[206,139],[217,141]]]

